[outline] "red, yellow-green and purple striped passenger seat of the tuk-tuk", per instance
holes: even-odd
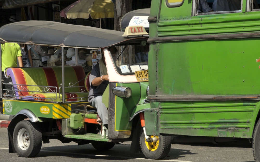
[[[55,101],[61,102],[62,94],[59,97],[59,87],[62,83],[61,67],[38,67],[38,68],[8,68],[6,70],[7,76],[10,76],[14,86],[15,96],[24,96],[22,99],[29,100],[42,100],[42,101]],[[87,100],[88,91],[85,88],[84,78],[86,74],[81,66],[66,66],[64,70],[65,87],[75,84],[73,87],[65,88],[66,101]],[[81,80],[79,83],[77,83]],[[70,84],[70,85],[69,85]],[[19,86],[20,85],[20,86]],[[21,86],[25,85],[25,86]],[[43,93],[47,89],[41,86],[52,86],[49,88],[50,92],[56,93]],[[82,87],[75,87],[82,86]],[[56,87],[56,88],[54,88]],[[28,92],[28,91],[35,92]],[[82,93],[83,92],[83,93]],[[80,97],[80,98],[79,98]],[[19,99],[20,97],[16,97]],[[45,99],[49,98],[49,99]],[[53,99],[53,100],[52,100]]]

